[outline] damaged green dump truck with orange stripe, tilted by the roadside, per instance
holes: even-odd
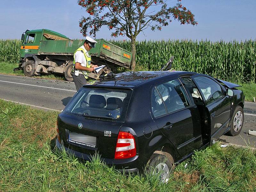
[[[131,67],[132,53],[109,43],[104,39],[90,50],[92,62],[100,65],[116,67]],[[20,64],[26,76],[58,73],[65,76],[68,81],[73,81],[71,69],[73,66],[75,50],[84,44],[84,40],[71,40],[67,36],[49,29],[27,30],[21,36]],[[90,73],[92,78],[99,74]]]

